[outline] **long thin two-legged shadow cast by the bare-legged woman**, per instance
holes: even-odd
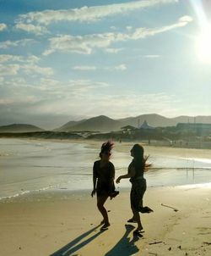
[[[86,239],[83,242],[80,242],[82,239],[84,239],[85,237],[89,236],[89,234],[91,234],[93,231],[95,231],[98,227],[100,227],[100,225],[95,226],[93,229],[85,232],[84,234],[82,234],[81,236],[75,238],[72,242],[69,242],[67,245],[65,245],[63,248],[57,250],[57,252],[52,253],[50,256],[69,256],[72,253],[75,253],[76,251],[78,251],[80,248],[83,248],[85,245],[87,245],[89,242],[91,242],[92,240],[94,240],[96,237],[100,236],[100,234],[102,234],[103,231],[98,231],[97,233],[95,233],[95,235],[93,235],[92,237],[89,237],[88,239]],[[80,242],[78,244],[78,242]],[[77,245],[78,244],[78,245]]]

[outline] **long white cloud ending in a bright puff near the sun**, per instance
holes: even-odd
[[[165,25],[159,28],[137,28],[132,33],[104,33],[86,36],[57,36],[49,39],[50,47],[43,55],[54,52],[90,54],[95,48],[109,48],[114,42],[125,42],[128,40],[143,39],[148,36],[155,36],[166,31],[187,25],[192,21],[189,16],[183,16],[172,25]]]

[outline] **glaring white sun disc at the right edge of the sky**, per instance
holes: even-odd
[[[211,25],[203,29],[196,42],[197,56],[203,63],[211,64]]]

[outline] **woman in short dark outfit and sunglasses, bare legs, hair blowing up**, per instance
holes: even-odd
[[[103,216],[101,230],[107,229],[110,226],[104,204],[107,198],[115,198],[119,193],[115,191],[115,168],[110,162],[112,147],[112,142],[103,143],[100,150],[100,160],[95,161],[93,166],[93,191],[91,192],[91,196],[93,197],[95,193],[97,194],[97,207]]]

